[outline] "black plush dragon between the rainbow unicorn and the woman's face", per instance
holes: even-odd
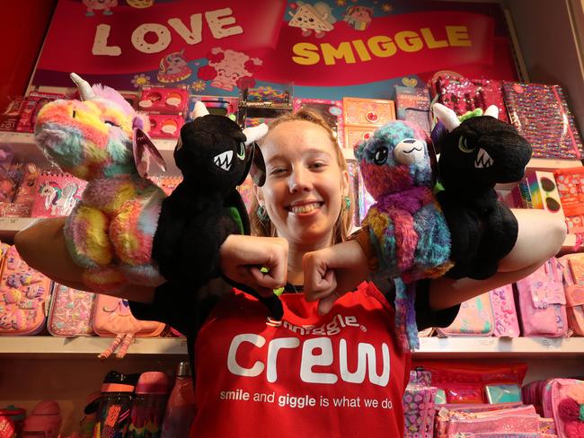
[[[251,166],[245,140],[241,127],[224,116],[202,116],[181,128],[174,161],[183,180],[163,201],[152,250],[162,276],[178,287],[197,290],[220,276],[219,247],[229,234],[250,232],[243,200],[235,188]],[[230,159],[226,154],[217,159],[228,152]],[[228,170],[221,163],[229,164]],[[276,295],[263,298],[248,286],[231,283],[257,297],[273,318],[281,319],[282,304]]]

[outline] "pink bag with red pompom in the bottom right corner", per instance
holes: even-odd
[[[553,418],[559,438],[584,436],[584,381],[552,379],[547,381],[542,396],[544,416]]]

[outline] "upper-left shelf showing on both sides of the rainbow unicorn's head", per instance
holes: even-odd
[[[155,139],[156,148],[164,157],[166,162],[167,173],[171,175],[180,175],[181,171],[174,164],[173,152],[176,145],[176,139]],[[13,149],[14,156],[19,162],[34,162],[40,167],[48,166],[49,161],[42,153],[40,147],[34,143],[34,136],[30,133],[21,132],[0,132],[0,145],[10,145]],[[151,170],[153,174],[162,173],[158,169]]]

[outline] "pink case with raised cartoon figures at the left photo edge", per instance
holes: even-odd
[[[0,335],[35,335],[45,324],[52,282],[29,267],[11,246],[0,278]]]

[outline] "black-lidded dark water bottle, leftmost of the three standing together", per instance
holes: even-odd
[[[116,371],[105,375],[93,429],[94,438],[127,436],[129,414],[138,376],[139,374],[122,374]]]

